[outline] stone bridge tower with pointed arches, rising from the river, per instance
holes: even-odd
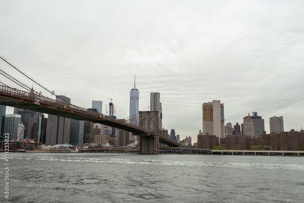
[[[159,154],[159,111],[139,111],[138,126],[151,131],[137,135],[137,154]]]

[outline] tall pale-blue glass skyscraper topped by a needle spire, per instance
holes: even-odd
[[[139,91],[135,86],[135,75],[134,75],[134,88],[130,90],[130,123],[138,125],[139,121]]]

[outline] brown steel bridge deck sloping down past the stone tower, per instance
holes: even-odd
[[[42,95],[25,92],[8,86],[0,85],[0,104],[80,121],[92,121],[129,131],[143,137],[154,136],[154,131],[141,128],[124,119],[117,119],[92,110],[77,107],[70,103],[53,100]],[[159,135],[159,142],[170,146],[179,146],[179,143],[161,135]]]

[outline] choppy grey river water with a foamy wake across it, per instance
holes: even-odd
[[[0,202],[304,202],[304,158],[0,153]]]

